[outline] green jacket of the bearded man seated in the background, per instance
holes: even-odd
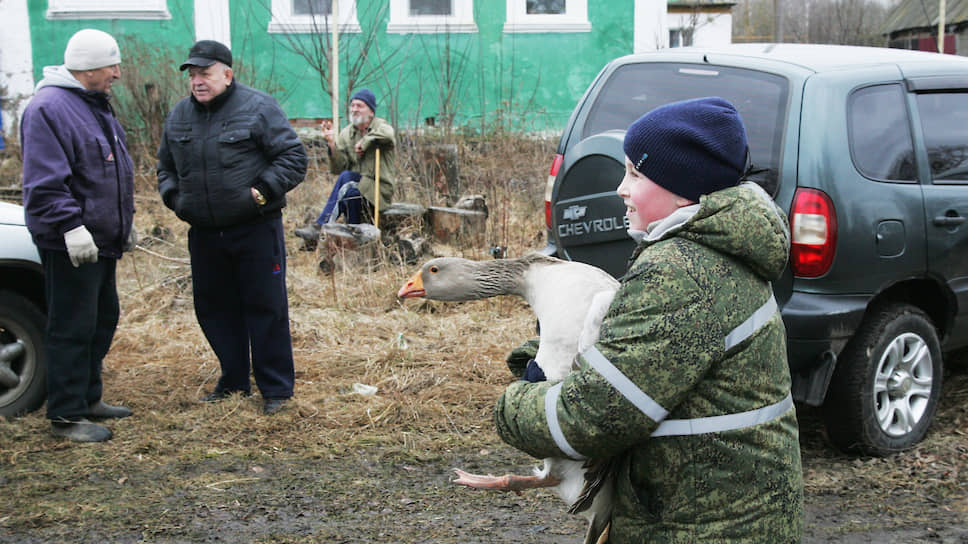
[[[356,142],[363,144],[363,156],[356,154]],[[380,209],[393,201],[393,183],[396,180],[394,151],[397,146],[393,127],[380,117],[374,117],[366,133],[349,125],[336,136],[335,148],[330,150],[329,171],[339,174],[344,170],[360,174],[360,194],[376,206],[376,150],[380,150]]]

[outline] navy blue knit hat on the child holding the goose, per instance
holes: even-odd
[[[641,174],[693,202],[737,185],[746,169],[746,128],[736,108],[719,97],[646,113],[625,133],[623,148]]]

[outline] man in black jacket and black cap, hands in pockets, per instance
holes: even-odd
[[[233,79],[232,53],[196,42],[191,96],[168,114],[158,149],[158,191],[191,225],[195,315],[222,375],[213,402],[248,395],[252,373],[273,414],[292,397],[282,208],[306,174],[306,151],[279,104]]]

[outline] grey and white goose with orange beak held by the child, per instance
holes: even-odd
[[[618,286],[615,278],[599,268],[539,253],[492,261],[440,257],[427,261],[397,296],[442,301],[523,297],[538,318],[540,338],[535,361],[545,377],[555,382],[564,379],[578,354],[598,340],[602,319]],[[534,468],[532,476],[454,471],[458,476],[454,483],[478,489],[520,492],[552,488],[569,505],[569,513],[581,513],[588,519],[592,541],[598,540],[598,535],[607,535],[612,496],[607,461],[547,458],[543,466]]]

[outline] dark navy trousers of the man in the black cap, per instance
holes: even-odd
[[[282,218],[188,231],[195,316],[222,368],[216,391],[292,396],[295,370]],[[251,358],[250,358],[251,354]]]

